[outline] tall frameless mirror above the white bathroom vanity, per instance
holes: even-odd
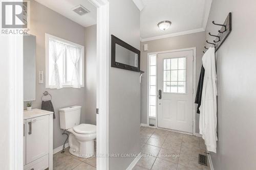
[[[23,36],[23,96],[24,102],[35,100],[36,90],[36,37]]]

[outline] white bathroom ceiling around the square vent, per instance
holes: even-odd
[[[97,9],[88,0],[35,0],[36,2],[66,16],[67,18],[79,23],[83,27],[89,27],[96,24]],[[78,15],[72,9],[78,5],[82,5],[88,9],[90,13],[82,16]]]

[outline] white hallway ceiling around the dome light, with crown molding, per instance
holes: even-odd
[[[142,0],[140,35],[142,41],[204,31],[211,0]],[[162,31],[157,23],[169,20],[172,25]]]

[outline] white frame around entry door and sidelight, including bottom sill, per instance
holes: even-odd
[[[160,52],[153,52],[153,53],[147,53],[147,126],[149,126],[150,124],[150,116],[149,116],[149,92],[150,92],[150,81],[148,79],[148,73],[150,71],[150,67],[149,67],[149,57],[150,55],[156,55],[157,59],[156,59],[156,79],[158,80],[158,55],[162,54],[162,53],[174,53],[174,52],[183,52],[183,51],[193,51],[193,99],[196,98],[196,58],[197,58],[197,48],[196,47],[190,47],[190,48],[182,48],[182,49],[177,49],[177,50],[169,50],[169,51],[160,51]],[[158,81],[156,80],[156,94],[158,96]],[[158,102],[158,98],[156,99],[156,103]],[[158,124],[157,124],[157,119],[158,119],[158,106],[156,105],[156,125],[155,128],[157,129],[164,129],[164,128],[159,128]],[[181,131],[176,131],[176,130],[171,130],[171,129],[164,129],[164,130],[169,130],[169,131],[174,131],[174,132],[179,132],[179,133],[184,133],[184,134],[190,134],[187,132],[181,132]],[[193,135],[197,135],[196,133],[196,104],[193,103]]]

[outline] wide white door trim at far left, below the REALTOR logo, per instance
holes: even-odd
[[[1,169],[23,169],[23,36],[1,36],[1,108],[0,127],[5,129],[0,140],[2,151]]]

